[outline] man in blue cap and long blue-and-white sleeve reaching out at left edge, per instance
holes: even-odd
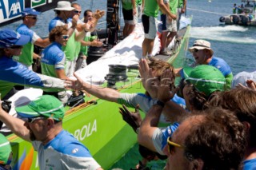
[[[25,65],[12,59],[14,55],[21,54],[22,45],[29,41],[28,36],[18,34],[14,30],[0,30],[0,93],[2,99],[8,99],[14,94],[14,85],[26,85],[46,91],[74,89],[74,81],[34,73]]]

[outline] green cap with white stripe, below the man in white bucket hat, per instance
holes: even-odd
[[[198,65],[194,69],[191,67],[183,68],[186,80],[194,85],[199,92],[208,97],[214,91],[224,91],[226,79],[222,72],[211,65]]]

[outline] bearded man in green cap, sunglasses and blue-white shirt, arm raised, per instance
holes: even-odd
[[[65,111],[56,97],[43,95],[15,110],[27,121],[11,117],[1,107],[0,121],[33,145],[40,169],[102,170],[88,148],[62,128]]]

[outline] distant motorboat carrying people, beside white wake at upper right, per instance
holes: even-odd
[[[219,18],[219,22],[226,25],[256,26],[255,2],[256,0],[242,0],[246,5],[241,9],[241,14],[230,14]],[[252,2],[253,4],[250,4]]]

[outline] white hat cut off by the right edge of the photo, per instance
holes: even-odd
[[[231,88],[234,89],[236,87],[236,85],[238,85],[239,83],[247,87],[246,81],[248,81],[248,80],[252,80],[252,81],[256,82],[256,71],[254,71],[254,72],[243,71],[243,72],[236,74],[233,77]]]

